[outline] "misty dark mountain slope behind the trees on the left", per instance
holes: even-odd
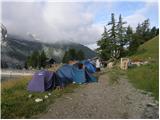
[[[1,62],[9,67],[14,67],[16,64],[23,66],[27,56],[35,50],[42,49],[48,57],[54,58],[57,62],[61,62],[65,51],[69,48],[82,50],[85,53],[86,59],[96,55],[88,47],[73,42],[42,43],[33,39],[7,35],[3,43],[1,44]]]

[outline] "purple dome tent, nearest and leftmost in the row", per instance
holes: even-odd
[[[28,90],[33,92],[44,92],[53,87],[55,74],[51,71],[39,71],[35,73],[28,84]]]

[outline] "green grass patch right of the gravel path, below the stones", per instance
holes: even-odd
[[[130,82],[136,88],[151,92],[158,100],[159,98],[159,80],[158,80],[158,65],[148,64],[133,68],[127,71]]]

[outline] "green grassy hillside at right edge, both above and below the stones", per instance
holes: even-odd
[[[127,75],[133,85],[139,89],[151,92],[152,95],[159,98],[159,36],[147,41],[141,45],[136,54],[131,59],[140,59],[148,61],[149,64],[128,69]]]

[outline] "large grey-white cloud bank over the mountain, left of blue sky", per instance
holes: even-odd
[[[11,34],[30,34],[44,42],[95,43],[101,35],[100,26],[94,24],[94,14],[84,7],[88,6],[83,3],[3,2],[2,23]]]

